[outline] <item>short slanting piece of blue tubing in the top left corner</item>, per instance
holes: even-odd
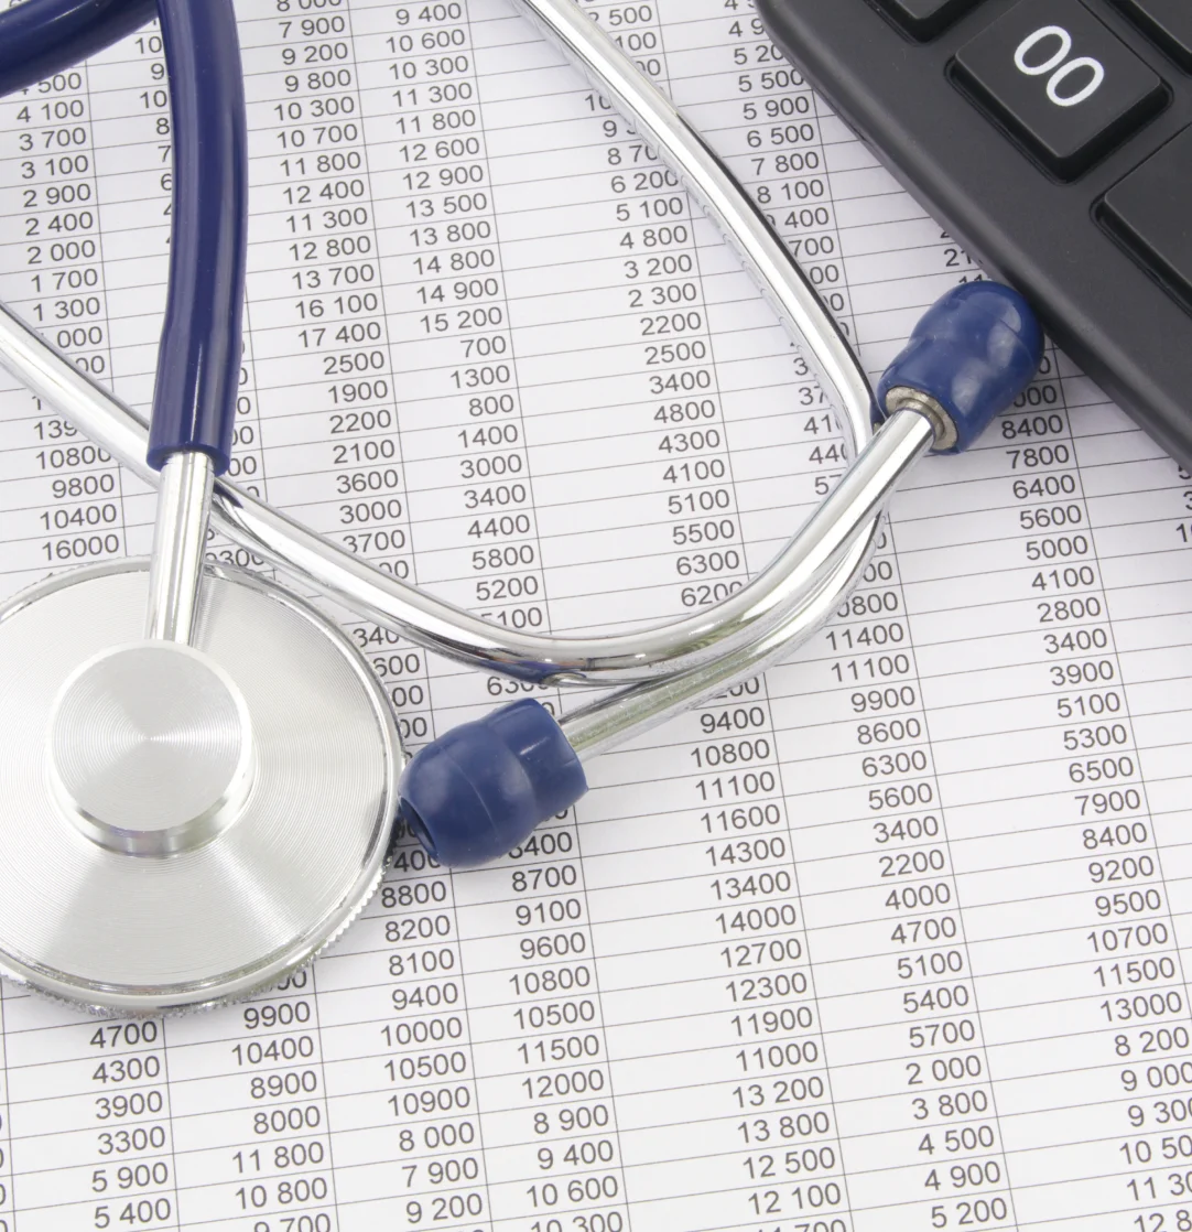
[[[156,0],[25,0],[0,12],[0,96],[73,68],[158,15]]]

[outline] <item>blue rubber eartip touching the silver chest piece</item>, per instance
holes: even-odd
[[[410,760],[399,818],[440,864],[470,869],[511,851],[587,791],[584,768],[532,697],[463,723]]]

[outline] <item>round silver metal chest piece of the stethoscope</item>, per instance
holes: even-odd
[[[404,766],[313,607],[209,570],[186,646],[143,638],[148,589],[100,565],[0,609],[0,971],[134,1014],[248,995],[334,939]]]

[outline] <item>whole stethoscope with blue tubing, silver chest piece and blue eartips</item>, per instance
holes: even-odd
[[[0,94],[160,16],[174,116],[170,290],[144,420],[0,307],[0,362],[159,484],[148,562],[52,577],[0,609],[0,971],[101,1011],[266,987],[376,890],[398,818],[445,865],[522,843],[586,791],[587,758],[789,654],[858,580],[925,453],[970,445],[1033,377],[1022,298],[975,281],[919,323],[874,398],[809,281],[719,158],[574,0],[517,0],[680,172],[839,408],[856,461],[723,602],[640,633],[518,633],[382,572],[220,478],[240,370],[246,121],[232,0],[25,0]],[[872,434],[872,425],[880,429]],[[872,434],[872,439],[871,439]],[[562,719],[523,699],[408,761],[353,644],[283,586],[203,562],[208,521],[427,649],[543,685],[622,685]]]

